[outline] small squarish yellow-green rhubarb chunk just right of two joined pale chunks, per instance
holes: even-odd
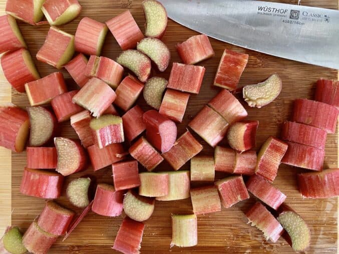
[[[195,156],[191,158],[191,181],[214,181],[214,158]]]

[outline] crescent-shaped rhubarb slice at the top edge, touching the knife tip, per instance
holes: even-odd
[[[144,0],[142,6],[146,18],[145,35],[147,37],[161,38],[165,34],[167,27],[165,7],[156,0]]]

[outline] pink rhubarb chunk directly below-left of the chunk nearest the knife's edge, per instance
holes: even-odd
[[[204,74],[203,66],[173,62],[167,87],[198,94]]]

